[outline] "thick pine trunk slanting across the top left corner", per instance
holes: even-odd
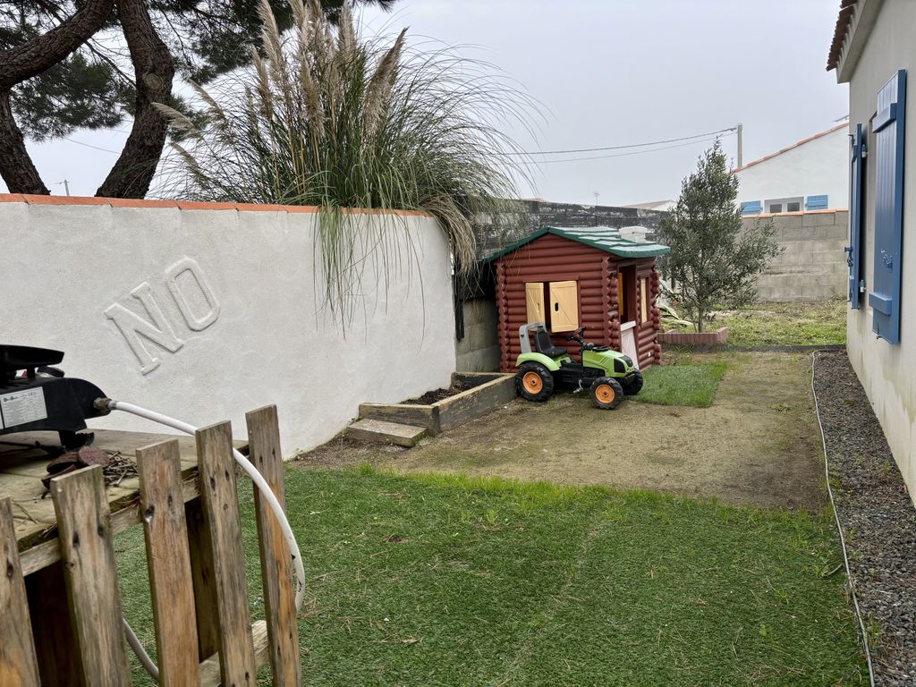
[[[114,0],[88,0],[81,10],[48,33],[0,52],[0,91],[63,60],[104,25],[113,8]]]

